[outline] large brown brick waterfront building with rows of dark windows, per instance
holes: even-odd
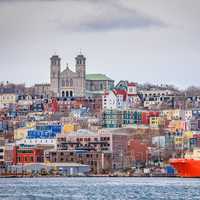
[[[128,167],[128,136],[107,131],[79,130],[57,137],[57,149],[45,151],[50,162],[79,162],[95,173]]]

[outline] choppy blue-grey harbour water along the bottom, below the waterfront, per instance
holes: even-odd
[[[0,178],[0,199],[200,199],[200,179]]]

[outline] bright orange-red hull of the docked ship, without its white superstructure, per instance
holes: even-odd
[[[171,159],[170,164],[176,169],[180,177],[200,177],[200,160]]]

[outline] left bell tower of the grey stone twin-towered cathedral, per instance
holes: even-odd
[[[60,60],[58,55],[53,55],[50,58],[50,84],[51,91],[55,96],[59,96],[60,90]]]

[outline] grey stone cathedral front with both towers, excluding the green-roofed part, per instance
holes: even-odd
[[[79,54],[75,58],[73,72],[68,65],[61,71],[61,59],[58,55],[50,58],[50,88],[57,97],[84,97],[86,79],[86,58]]]

